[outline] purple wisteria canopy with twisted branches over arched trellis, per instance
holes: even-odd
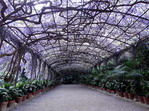
[[[149,0],[0,0],[0,11],[0,68],[11,73],[90,69],[149,38]]]

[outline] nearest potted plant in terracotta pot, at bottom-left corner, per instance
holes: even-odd
[[[8,101],[10,99],[7,89],[0,88],[0,98],[0,111],[5,111],[7,108]]]

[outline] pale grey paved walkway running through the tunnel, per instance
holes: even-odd
[[[149,111],[149,108],[85,86],[61,85],[11,111]]]

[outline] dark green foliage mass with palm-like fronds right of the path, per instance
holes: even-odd
[[[86,84],[149,97],[149,49],[142,45],[135,59],[121,59],[117,65],[109,61],[82,78]]]

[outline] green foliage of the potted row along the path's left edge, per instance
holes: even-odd
[[[16,85],[4,83],[0,88],[0,102],[15,100],[25,94],[58,84],[57,81],[34,80],[18,82]]]

